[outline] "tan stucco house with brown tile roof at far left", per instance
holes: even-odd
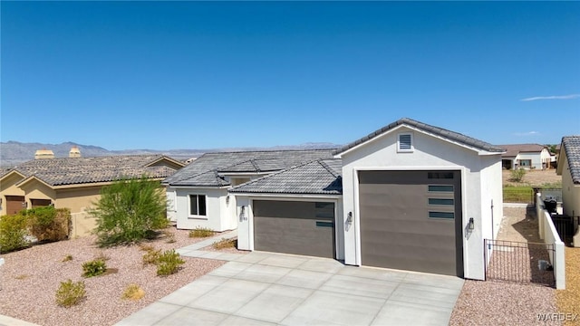
[[[72,154],[73,155],[73,154]],[[0,175],[1,215],[23,208],[54,206],[81,213],[98,200],[102,186],[120,177],[162,180],[184,163],[161,155],[39,158]]]

